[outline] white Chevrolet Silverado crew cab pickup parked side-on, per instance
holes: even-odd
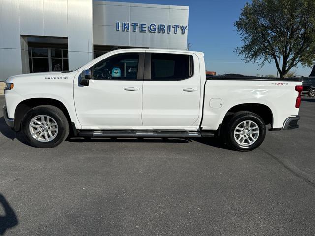
[[[269,130],[298,128],[300,79],[210,76],[203,53],[120,49],[74,71],[6,80],[7,125],[35,147],[69,135],[222,137],[239,151]]]

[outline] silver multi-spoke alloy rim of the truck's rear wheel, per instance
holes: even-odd
[[[259,127],[252,120],[245,120],[239,123],[234,129],[234,139],[242,146],[250,146],[259,137]]]

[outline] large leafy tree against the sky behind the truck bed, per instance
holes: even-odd
[[[238,55],[261,67],[274,61],[280,78],[315,63],[315,0],[252,0],[234,26],[244,43]]]

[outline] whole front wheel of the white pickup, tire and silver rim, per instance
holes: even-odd
[[[51,105],[41,105],[27,112],[22,121],[25,139],[37,148],[53,148],[69,135],[68,120]]]

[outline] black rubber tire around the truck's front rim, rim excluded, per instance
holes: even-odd
[[[47,115],[53,118],[58,125],[58,132],[56,137],[48,142],[41,142],[32,137],[29,124],[35,116]],[[25,139],[30,145],[37,148],[53,148],[59,145],[63,140],[65,140],[69,135],[69,123],[63,112],[51,105],[41,105],[32,108],[27,112],[22,120],[22,132]]]

